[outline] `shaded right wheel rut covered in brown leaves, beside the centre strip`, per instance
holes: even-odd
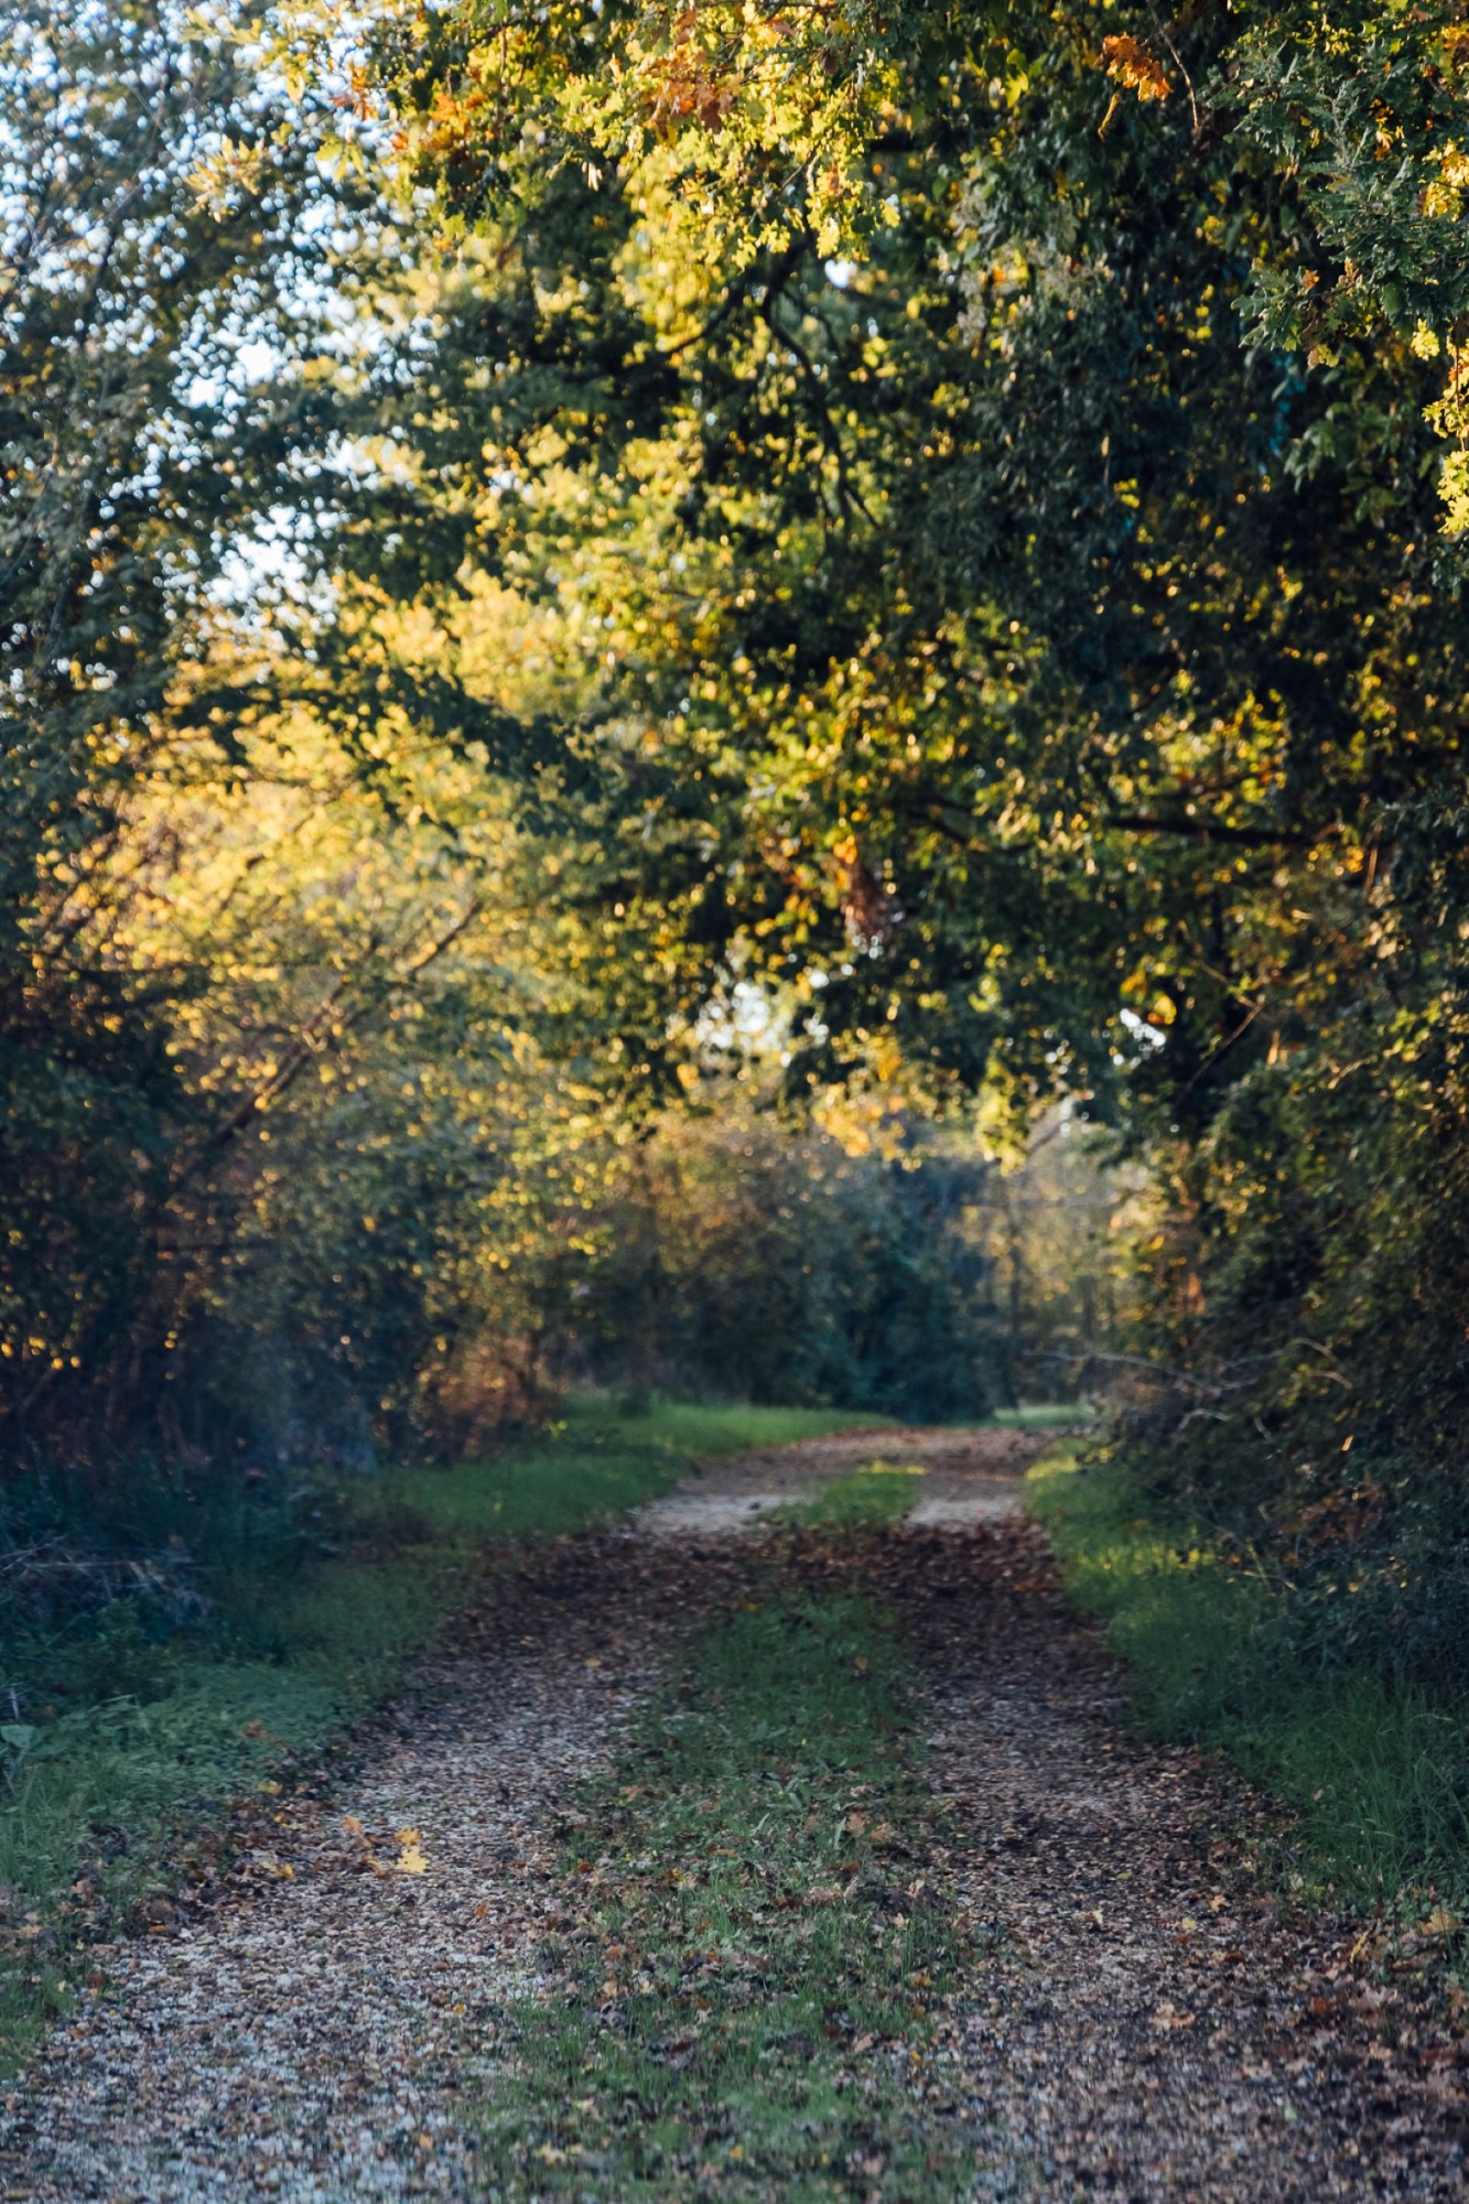
[[[1414,1957],[1286,1915],[1264,1809],[1140,1748],[1125,1679],[1039,1532],[900,1532],[871,1571],[929,1675],[929,1873],[982,1931],[931,2087],[988,2144],[982,2197],[1465,2195],[1469,2043]]]

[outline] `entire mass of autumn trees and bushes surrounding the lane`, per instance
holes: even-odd
[[[1454,1671],[1467,62],[11,7],[7,1474],[1101,1349],[1323,1644]],[[1054,1111],[1105,1322],[997,1223]]]

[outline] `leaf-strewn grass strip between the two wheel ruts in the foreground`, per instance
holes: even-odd
[[[973,2144],[922,2094],[962,1951],[913,1880],[904,1651],[862,1596],[770,1569],[585,1787],[538,1995],[479,2017],[507,2204],[968,2193]]]

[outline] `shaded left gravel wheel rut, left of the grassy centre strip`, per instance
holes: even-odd
[[[657,1556],[653,1556],[657,1563]],[[695,1587],[719,1582],[717,1563]],[[536,1992],[562,1792],[609,1750],[688,1585],[629,1534],[492,1578],[331,1803],[282,1787],[240,1869],[51,2036],[0,2127],[35,2204],[463,2197],[481,2006]]]

